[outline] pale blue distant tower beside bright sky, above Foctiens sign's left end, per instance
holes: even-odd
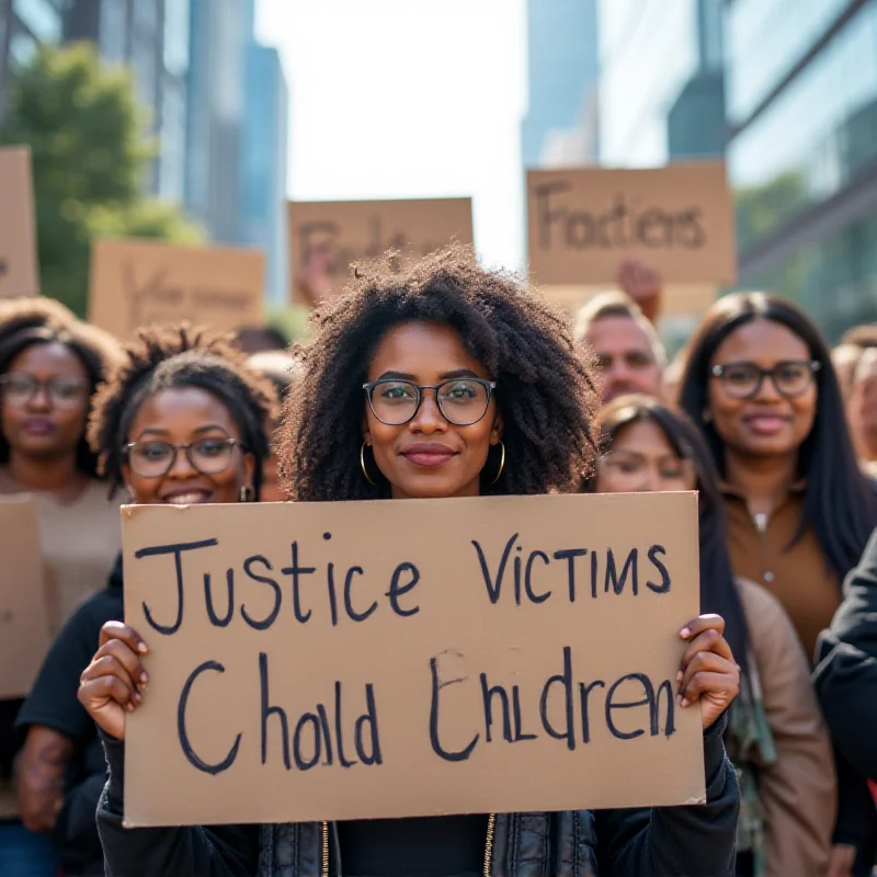
[[[528,0],[525,168],[596,157],[596,0]]]

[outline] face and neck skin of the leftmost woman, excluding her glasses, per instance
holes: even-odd
[[[10,447],[7,477],[21,490],[54,493],[67,501],[76,499],[88,485],[88,476],[76,465],[89,410],[84,366],[65,344],[48,342],[23,350],[5,374],[30,375],[42,383],[30,401],[4,401],[0,407],[0,429]],[[53,399],[45,385],[58,377],[81,383],[77,399],[62,405]]]

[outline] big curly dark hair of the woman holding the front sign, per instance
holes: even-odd
[[[568,320],[520,278],[480,267],[470,247],[452,246],[401,272],[394,272],[392,255],[356,269],[346,293],[315,312],[309,341],[295,350],[301,372],[275,436],[289,496],[389,497],[386,479],[369,485],[360,468],[362,385],[381,338],[410,321],[453,327],[497,381],[506,463],[492,483],[499,464],[489,457],[481,492],[574,489],[593,459],[599,397]]]

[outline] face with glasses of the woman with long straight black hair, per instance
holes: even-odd
[[[798,335],[772,320],[751,320],[716,349],[710,371],[708,413],[729,451],[797,453],[817,411],[810,351]]]

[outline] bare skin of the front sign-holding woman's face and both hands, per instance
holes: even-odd
[[[443,375],[475,372],[490,377],[466,352],[456,330],[429,323],[407,323],[388,332],[369,363],[368,377],[386,373],[410,375],[418,384],[435,384]],[[478,480],[491,444],[500,441],[502,419],[491,408],[479,423],[455,426],[438,411],[426,391],[414,419],[402,426],[375,421],[367,405],[363,435],[390,482],[392,497],[435,498],[477,496]],[[440,422],[441,421],[443,422]],[[437,466],[422,467],[406,458],[412,444],[441,443],[453,453]],[[679,701],[683,708],[697,704],[708,728],[728,708],[740,686],[740,672],[722,636],[717,615],[692,619],[679,636],[687,642],[679,671]],[[125,738],[125,716],[144,701],[149,676],[144,664],[149,647],[129,625],[109,622],[100,648],[82,673],[79,701],[98,725],[118,740]]]

